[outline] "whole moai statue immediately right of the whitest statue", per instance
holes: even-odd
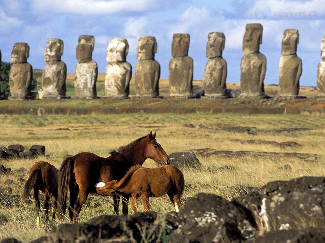
[[[135,88],[138,97],[159,97],[160,65],[155,60],[157,42],[153,36],[141,36],[136,48]]]

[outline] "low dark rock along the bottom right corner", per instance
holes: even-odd
[[[277,230],[264,236],[247,240],[245,243],[322,243],[325,242],[325,229],[305,228],[302,230]]]

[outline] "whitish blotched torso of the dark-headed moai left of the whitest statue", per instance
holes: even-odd
[[[74,76],[76,98],[96,98],[97,63],[94,60],[77,63]]]

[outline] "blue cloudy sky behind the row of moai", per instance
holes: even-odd
[[[161,64],[161,77],[167,78],[173,33],[189,33],[188,55],[194,60],[194,78],[202,79],[207,36],[216,31],[226,36],[223,58],[228,65],[227,82],[240,82],[247,23],[263,25],[260,52],[267,60],[266,84],[278,83],[283,30],[298,29],[297,55],[303,63],[300,84],[316,86],[320,41],[325,36],[324,0],[0,0],[0,49],[2,61],[8,62],[14,43],[27,42],[28,62],[43,69],[46,40],[59,38],[64,41],[62,61],[72,73],[79,35],[93,35],[93,59],[103,73],[111,38],[128,40],[127,61],[135,67],[137,40],[151,35],[158,43],[155,59]]]

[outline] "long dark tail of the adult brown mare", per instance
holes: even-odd
[[[59,181],[58,181],[58,210],[62,215],[65,214],[67,209],[67,194],[70,185],[71,168],[74,164],[74,157],[66,157],[59,169]]]

